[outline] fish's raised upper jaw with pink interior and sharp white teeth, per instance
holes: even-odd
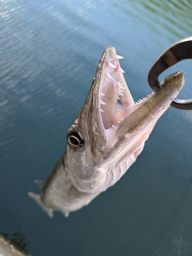
[[[139,106],[134,103],[124,80],[121,58],[114,47],[106,48],[93,81],[92,130],[100,150],[114,139],[119,123]]]

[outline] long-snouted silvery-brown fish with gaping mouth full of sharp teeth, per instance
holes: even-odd
[[[114,47],[103,52],[82,109],[67,133],[65,153],[46,181],[36,180],[41,194],[29,192],[53,217],[65,217],[88,205],[113,186],[142,152],[157,120],[182,89],[184,73],[165,77],[158,92],[134,102]]]

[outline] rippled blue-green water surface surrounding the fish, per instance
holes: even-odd
[[[69,218],[27,197],[65,150],[103,50],[124,56],[134,99],[145,97],[152,63],[191,36],[191,11],[187,0],[0,1],[1,232],[37,256],[192,254],[191,112],[167,110],[121,180]],[[178,70],[180,98],[192,97],[192,61],[166,74]]]

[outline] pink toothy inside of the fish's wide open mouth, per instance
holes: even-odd
[[[115,48],[108,47],[105,52],[103,69],[99,86],[100,118],[106,135],[108,129],[113,129],[125,117],[136,110],[145,99],[135,104],[132,95],[124,80],[124,71],[121,69]],[[149,96],[146,97],[148,99]]]

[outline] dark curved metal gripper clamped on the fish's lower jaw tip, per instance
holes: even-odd
[[[183,59],[192,58],[192,36],[182,39],[172,46],[170,46],[166,51],[164,51],[161,56],[155,61],[150,71],[148,72],[147,80],[148,84],[154,92],[157,92],[161,88],[161,83],[159,81],[160,74],[173,66],[177,62]],[[192,110],[192,99],[177,99],[170,104],[175,109],[179,110]]]

